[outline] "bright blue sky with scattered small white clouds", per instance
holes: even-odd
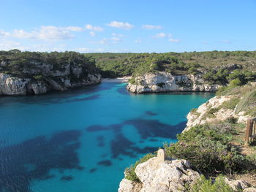
[[[0,0],[0,50],[256,50],[256,0]]]

